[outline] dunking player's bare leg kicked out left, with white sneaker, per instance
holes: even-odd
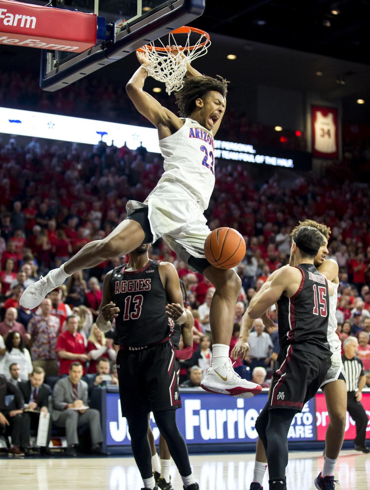
[[[95,267],[105,260],[129,253],[140,246],[144,238],[143,228],[137,221],[122,221],[108,237],[85,245],[59,269],[51,270],[44,278],[28,286],[22,294],[21,306],[36,308],[46,294],[63,284],[65,279],[77,270]]]

